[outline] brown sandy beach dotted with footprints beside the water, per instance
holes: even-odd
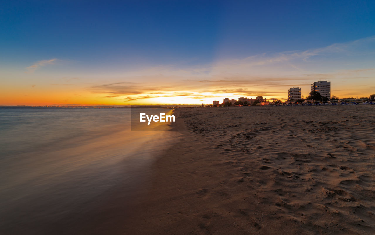
[[[176,109],[127,234],[372,234],[375,106]]]

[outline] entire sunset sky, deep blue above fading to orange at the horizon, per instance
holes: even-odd
[[[6,1],[0,105],[375,93],[375,1]]]

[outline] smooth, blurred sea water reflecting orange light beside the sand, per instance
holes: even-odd
[[[79,230],[104,211],[126,216],[150,183],[155,156],[177,135],[131,131],[130,115],[127,108],[0,108],[0,233]]]

